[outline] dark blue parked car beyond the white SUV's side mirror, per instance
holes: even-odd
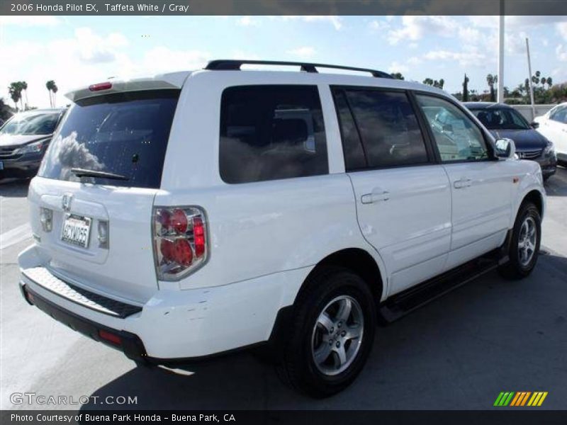
[[[495,137],[514,140],[520,159],[532,159],[541,166],[544,180],[555,174],[557,157],[552,142],[535,129],[538,123],[529,124],[521,113],[505,103],[466,102],[464,105],[488,128]]]

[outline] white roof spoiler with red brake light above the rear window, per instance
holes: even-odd
[[[118,80],[110,79],[105,82],[91,84],[65,94],[72,102],[85,98],[101,96],[103,94],[123,93],[125,91],[146,91],[181,89],[191,72],[173,72],[171,74],[160,74],[150,78]]]

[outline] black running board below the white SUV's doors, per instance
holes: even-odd
[[[419,285],[392,295],[381,305],[379,312],[386,322],[393,322],[451,290],[494,270],[507,261],[507,257],[502,257],[499,250],[492,251],[435,278],[425,280]]]

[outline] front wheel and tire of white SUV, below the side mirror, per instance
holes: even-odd
[[[524,202],[520,206],[508,248],[509,261],[500,266],[502,276],[510,279],[525,278],[532,273],[539,256],[541,217],[536,205]]]

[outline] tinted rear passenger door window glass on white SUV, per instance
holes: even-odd
[[[344,96],[358,130],[357,133],[352,131],[352,124],[345,120],[347,114],[339,108],[343,145],[345,142],[352,145],[345,148],[347,169],[359,168],[349,166],[349,162],[352,165],[360,163],[360,154],[354,150],[357,135],[362,142],[369,168],[428,162],[425,140],[405,92],[344,89]],[[340,106],[336,92],[335,101]],[[345,136],[352,140],[345,140]]]

